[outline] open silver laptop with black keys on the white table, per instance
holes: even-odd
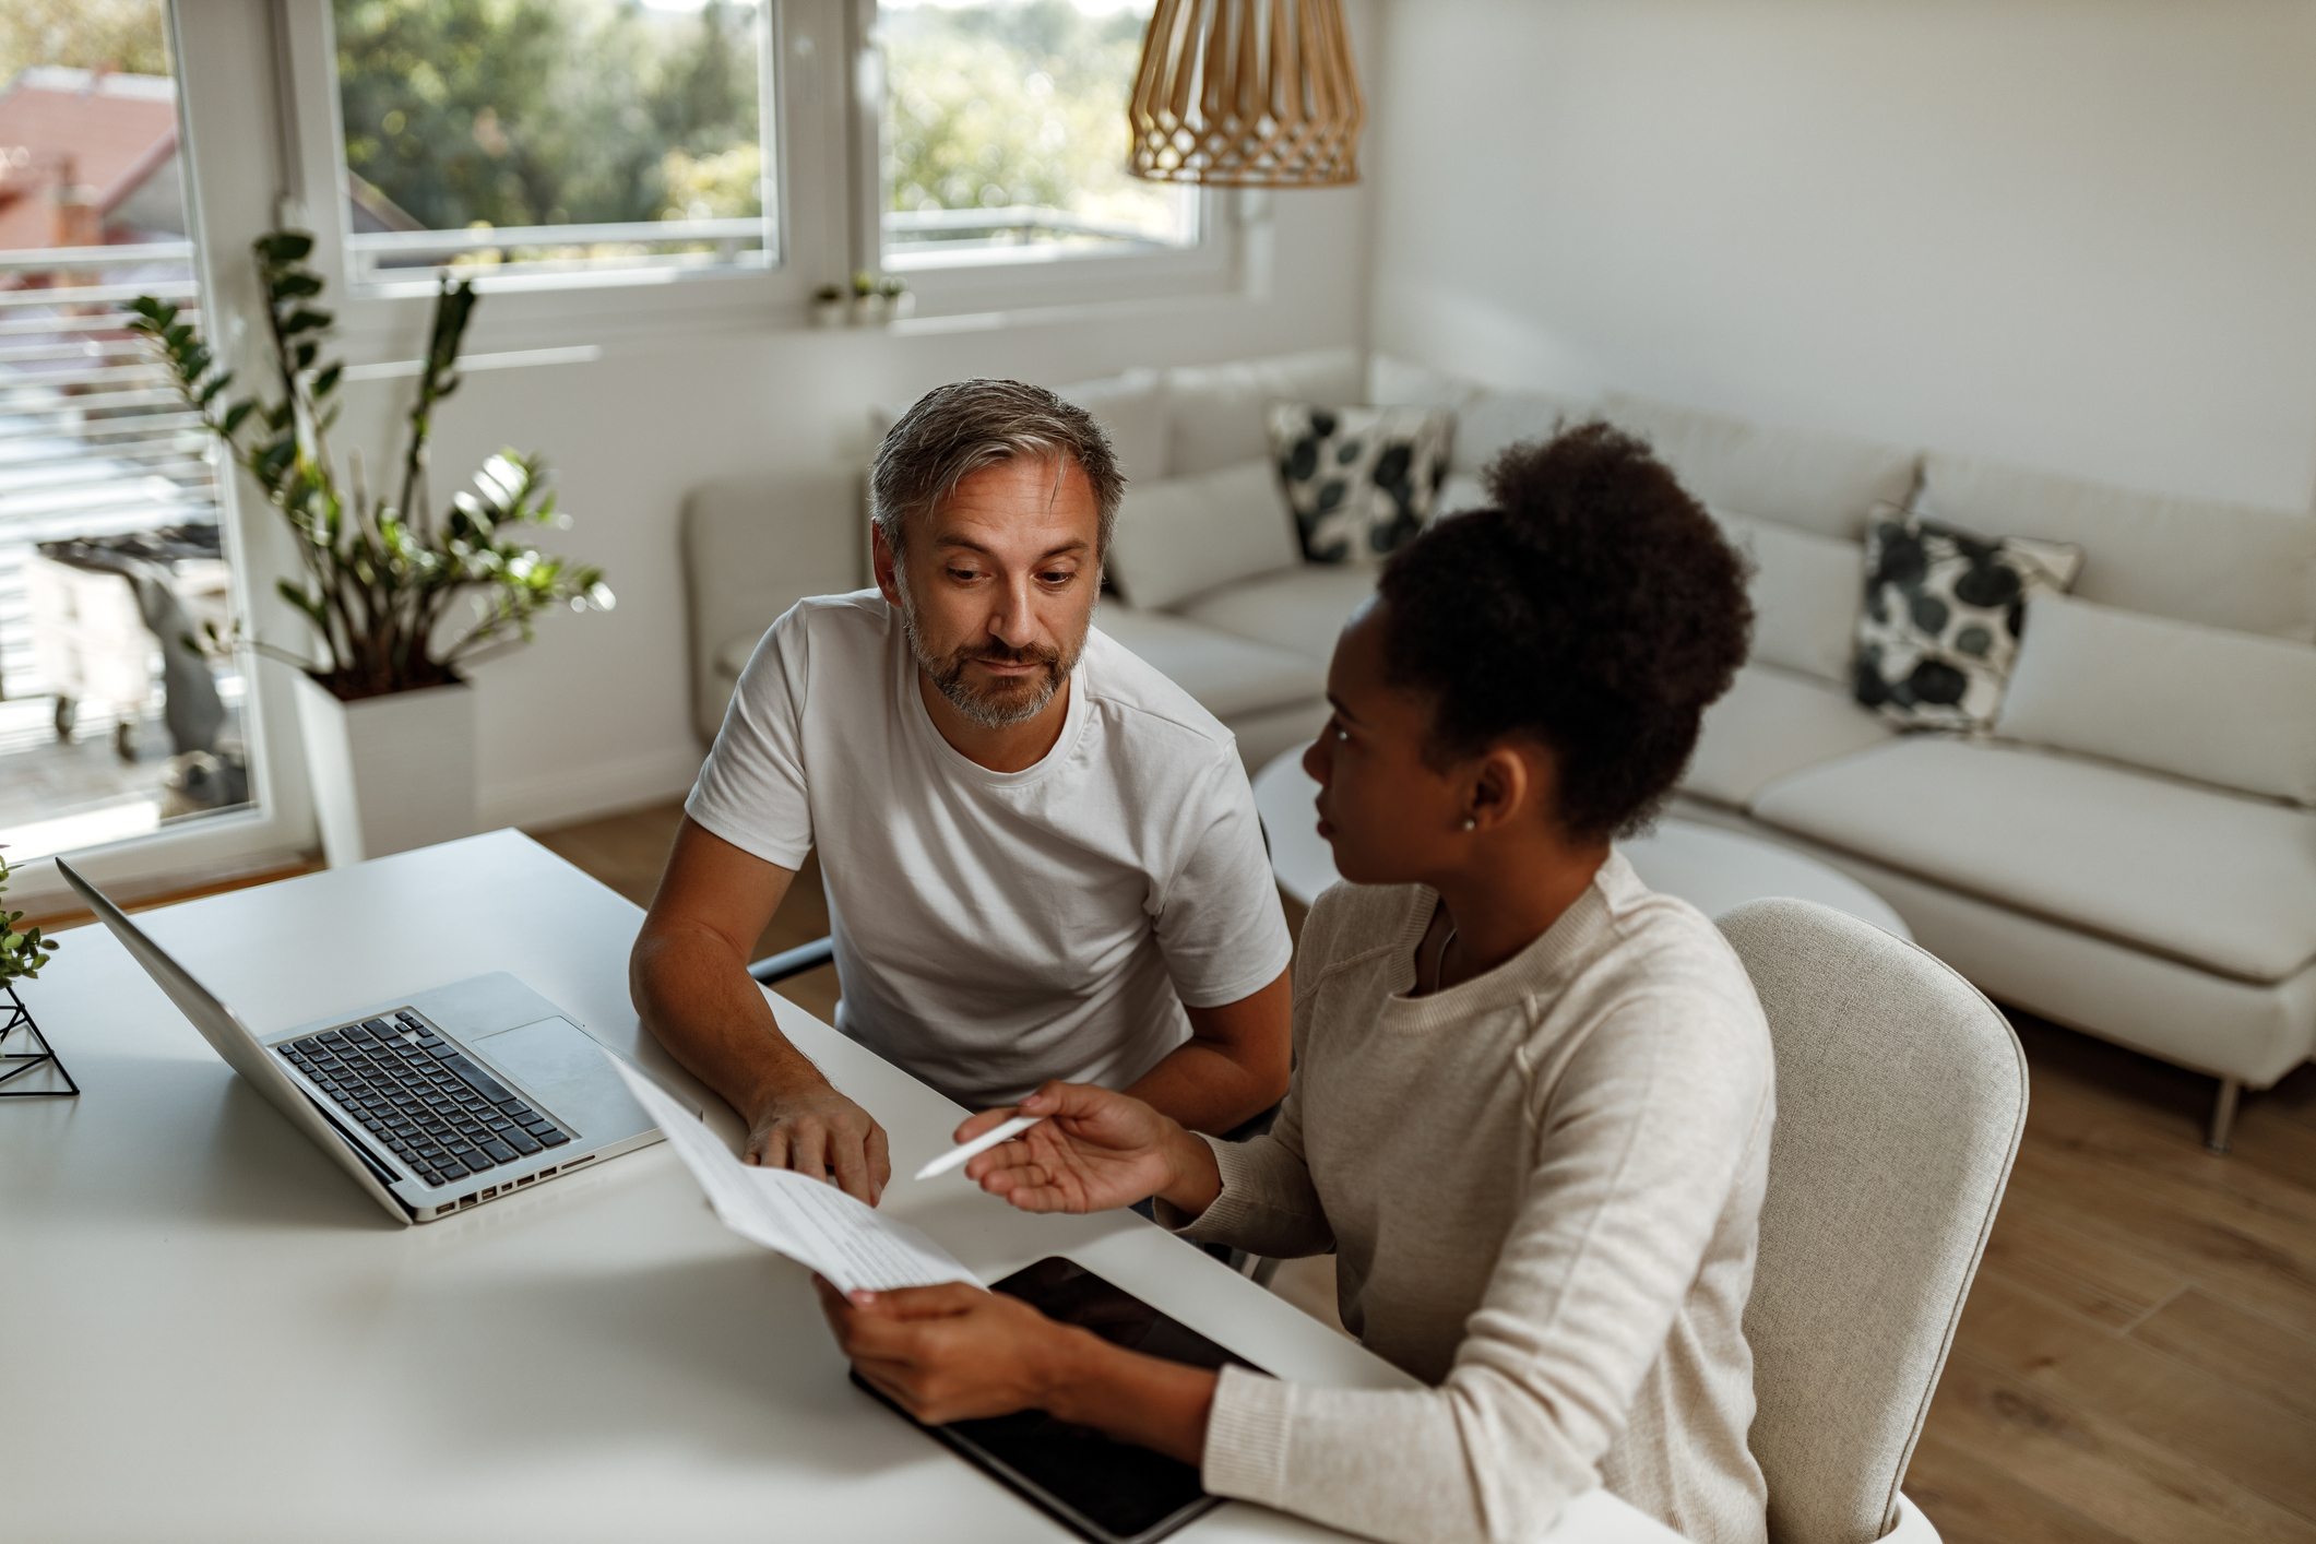
[[[433,1222],[660,1141],[602,1042],[512,975],[259,1037],[95,884],[63,859],[56,868],[218,1056],[396,1222]]]

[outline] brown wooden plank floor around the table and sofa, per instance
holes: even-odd
[[[533,836],[642,905],[679,819]],[[757,958],[824,933],[806,868]],[[827,1016],[836,972],[780,991]],[[2209,1079],[2017,1028],[2026,1139],[1906,1493],[1948,1544],[2316,1544],[2316,1065],[2214,1157]],[[1334,1319],[1327,1262],[1274,1289]]]

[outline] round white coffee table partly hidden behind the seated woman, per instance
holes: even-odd
[[[1318,833],[1318,815],[1311,808],[1318,782],[1304,773],[1302,755],[1304,745],[1297,745],[1255,773],[1255,813],[1262,815],[1262,831],[1271,843],[1278,889],[1311,905],[1341,875],[1334,870],[1334,850]],[[1693,819],[1663,819],[1649,836],[1617,843],[1617,850],[1633,863],[1642,884],[1679,896],[1707,917],[1765,896],[1795,896],[1862,917],[1899,938],[1913,938],[1890,903],[1857,880],[1756,836]]]

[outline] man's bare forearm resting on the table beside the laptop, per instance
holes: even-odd
[[[753,1120],[774,1097],[827,1086],[780,1032],[746,961],[720,938],[660,931],[637,944],[632,972],[644,1025],[743,1118]]]

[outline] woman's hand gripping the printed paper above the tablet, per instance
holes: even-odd
[[[1086,1338],[963,1282],[843,1294],[815,1275],[813,1289],[859,1375],[926,1426],[1051,1405],[1072,1340]]]

